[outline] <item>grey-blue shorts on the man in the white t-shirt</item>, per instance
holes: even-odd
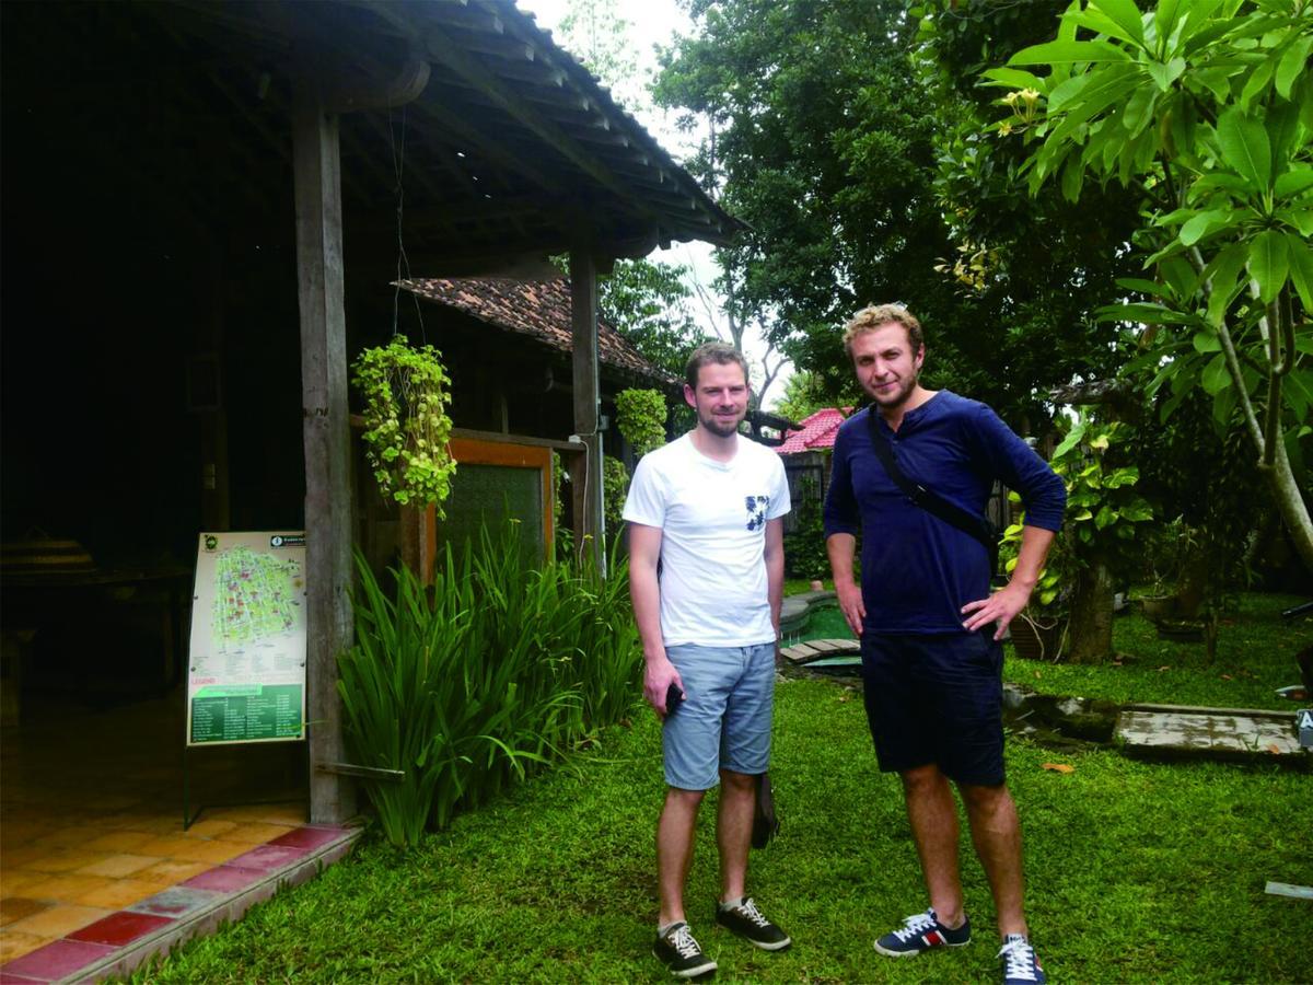
[[[720,771],[764,774],[771,766],[775,644],[666,649],[684,682],[684,703],[666,716],[666,783],[709,791]]]

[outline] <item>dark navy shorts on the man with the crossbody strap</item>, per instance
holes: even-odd
[[[1003,783],[1003,646],[977,633],[861,636],[867,721],[885,772],[935,763],[957,783]]]

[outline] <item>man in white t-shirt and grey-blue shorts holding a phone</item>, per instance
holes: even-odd
[[[684,919],[697,809],[721,785],[716,922],[765,951],[792,942],[744,893],[758,777],[771,759],[771,709],[789,486],[780,456],[742,437],[747,362],[709,343],[688,361],[697,424],[638,462],[625,503],[629,588],[662,716],[666,804],[656,825],[656,957],[679,978],[716,969]]]

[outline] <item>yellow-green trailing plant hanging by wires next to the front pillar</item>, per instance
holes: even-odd
[[[365,398],[365,456],[383,495],[406,506],[433,503],[437,515],[452,491],[448,440],[450,380],[432,345],[412,348],[402,336],[365,349],[353,365]]]

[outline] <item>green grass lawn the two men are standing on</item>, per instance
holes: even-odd
[[[1125,672],[1136,697],[1165,699],[1178,684],[1149,668],[1155,661],[1103,674]],[[1061,670],[1041,667],[1037,683]],[[1242,693],[1239,703],[1257,703],[1257,692]],[[974,943],[903,961],[872,950],[873,936],[926,906],[897,781],[876,770],[856,692],[786,680],[777,695],[772,776],[784,831],[754,852],[750,890],[796,943],[767,955],[712,927],[713,795],[687,898],[718,980],[997,980],[993,905],[969,848]],[[319,879],[135,980],[667,981],[650,956],[659,743],[655,717],[635,712],[632,728],[458,817],[411,855],[366,837]],[[1054,762],[1074,770],[1044,768]],[[1313,902],[1263,893],[1266,880],[1313,884],[1306,774],[1152,764],[1012,739],[1008,776],[1033,940],[1052,981],[1313,980]]]

